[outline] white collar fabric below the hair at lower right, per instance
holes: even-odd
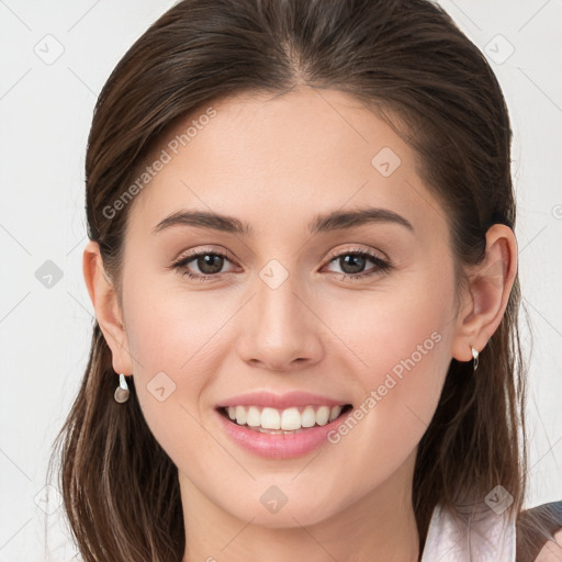
[[[422,562],[515,562],[515,519],[487,505],[436,506],[429,521]]]

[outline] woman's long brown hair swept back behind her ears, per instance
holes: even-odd
[[[459,281],[494,223],[515,227],[512,132],[481,52],[426,0],[183,0],[128,49],[104,85],[86,157],[88,232],[122,294],[130,187],[165,127],[238,92],[300,86],[348,92],[413,146],[450,224]],[[121,302],[121,301],[120,301]],[[420,551],[437,504],[481,503],[497,484],[520,513],[526,447],[518,279],[498,329],[471,363],[452,359],[416,460]],[[131,378],[133,379],[133,378]],[[86,561],[180,561],[186,549],[177,468],[150,432],[130,381],[126,405],[97,322],[81,387],[57,436],[60,490]],[[58,452],[57,449],[61,448]]]

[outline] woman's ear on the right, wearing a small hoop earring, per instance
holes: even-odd
[[[486,256],[469,270],[469,286],[461,296],[452,356],[458,361],[472,360],[471,346],[482,351],[499,326],[517,273],[517,241],[503,224],[486,233]]]

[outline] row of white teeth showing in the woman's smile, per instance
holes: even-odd
[[[283,411],[258,406],[228,406],[228,417],[238,425],[265,430],[263,432],[297,431],[315,425],[325,426],[334,422],[344,406],[290,407]],[[268,431],[273,430],[273,431]],[[279,431],[274,431],[279,430]]]

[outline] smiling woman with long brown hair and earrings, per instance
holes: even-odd
[[[85,560],[550,555],[510,138],[425,0],[164,14],[89,138],[97,322],[57,441]]]

